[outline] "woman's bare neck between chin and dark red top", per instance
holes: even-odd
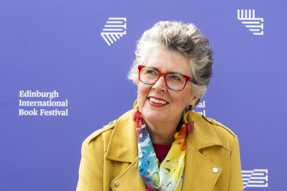
[[[167,122],[153,122],[144,119],[152,144],[172,144],[175,141],[174,134],[177,132],[176,127],[179,120],[181,119]]]

